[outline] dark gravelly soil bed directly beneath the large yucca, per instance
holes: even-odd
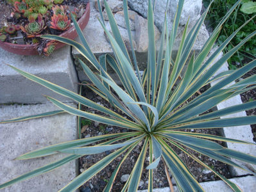
[[[204,90],[200,90],[200,92],[203,92]],[[98,102],[98,104],[101,104],[111,110],[114,110],[112,106],[108,104],[105,100],[101,99],[101,97],[97,97],[94,93],[90,92],[89,90],[85,89],[83,90],[83,95],[89,99],[92,99],[94,102]],[[197,95],[197,94],[196,94]],[[194,95],[194,97],[196,97]],[[83,108],[83,110],[88,111],[88,108]],[[97,111],[90,110],[92,113],[98,113]],[[120,111],[119,111],[120,112]],[[207,111],[209,112],[209,111]],[[82,137],[87,138],[90,136],[97,136],[101,134],[107,134],[107,133],[115,133],[115,132],[126,132],[127,129],[122,129],[120,127],[114,127],[114,126],[105,126],[103,124],[97,124],[94,122],[89,122],[89,125],[85,125],[82,128]],[[191,130],[192,132],[203,132],[207,134],[215,134],[215,135],[221,135],[219,132],[219,129],[194,129]],[[221,145],[224,145],[222,142],[218,142]],[[141,143],[142,145],[142,143]],[[128,158],[124,161],[123,165],[121,166],[121,169],[119,170],[119,173],[117,174],[117,177],[115,179],[115,182],[113,184],[112,191],[121,191],[123,188],[125,182],[121,181],[122,175],[130,174],[132,172],[133,166],[136,162],[137,157],[139,157],[140,154],[140,148],[142,146],[136,147],[131,154],[128,156]],[[191,170],[192,175],[198,180],[199,182],[203,181],[209,181],[209,180],[218,180],[219,178],[214,175],[214,173],[209,172],[209,170],[205,169],[200,164],[196,163],[191,157],[183,154],[178,148],[172,146],[175,152],[180,156],[180,158],[183,160],[183,162],[188,166],[189,170]],[[230,172],[228,170],[228,166],[226,164],[223,164],[219,161],[216,161],[214,159],[210,159],[209,157],[202,156],[198,154],[197,152],[194,152],[193,150],[188,149],[189,152],[194,154],[194,156],[199,157],[203,162],[208,164],[211,167],[214,167],[215,170],[217,170],[219,173],[224,175],[226,178],[230,178]],[[97,163],[103,157],[110,154],[110,152],[105,152],[102,154],[97,155],[91,155],[91,156],[84,156],[80,158],[80,173],[87,170],[90,166]],[[84,184],[80,189],[83,192],[89,192],[89,191],[103,191],[105,188],[108,179],[110,178],[112,172],[114,172],[115,167],[123,159],[124,154],[117,157],[112,163],[110,163],[106,168],[104,168],[101,172],[99,172],[96,176],[94,176],[92,179],[90,179],[86,184]],[[144,162],[144,168],[149,164],[148,161],[148,155],[146,156],[146,160]],[[171,174],[170,174],[171,175]],[[175,184],[175,180],[172,179],[173,184]],[[167,177],[165,173],[165,167],[163,164],[163,161],[160,161],[160,164],[158,167],[153,170],[153,188],[163,188],[168,187]],[[142,172],[141,182],[139,185],[139,189],[147,189],[148,188],[148,170],[144,169]]]

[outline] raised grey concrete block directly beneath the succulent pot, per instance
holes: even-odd
[[[71,47],[69,46],[56,50],[47,58],[20,56],[0,49],[0,104],[45,103],[47,99],[43,95],[51,95],[51,97],[62,101],[71,101],[71,99],[62,97],[26,79],[4,63],[77,92],[78,79],[71,60]]]

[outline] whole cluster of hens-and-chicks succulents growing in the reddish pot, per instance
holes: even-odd
[[[0,40],[10,42],[10,39],[17,36],[17,31],[21,30],[23,36],[31,38],[30,43],[38,43],[37,37],[42,35],[44,30],[60,33],[71,26],[71,14],[77,17],[78,10],[69,10],[68,6],[61,5],[64,0],[8,0],[12,4],[13,20],[23,20],[22,24],[10,24],[0,28]],[[25,20],[25,22],[24,22]],[[49,48],[50,47],[50,48]],[[43,53],[49,56],[55,49],[54,42],[48,42]],[[49,51],[51,50],[51,51]]]

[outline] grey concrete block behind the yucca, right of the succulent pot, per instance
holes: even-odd
[[[95,54],[96,58],[98,58],[102,54],[106,54],[106,53],[112,54],[111,45],[107,41],[107,38],[105,38],[104,30],[101,27],[101,24],[99,23],[98,18],[100,18],[99,12],[96,10],[96,8],[93,6],[93,3],[92,3],[92,4],[90,4],[90,20],[89,20],[87,27],[83,30],[83,34],[85,35],[85,38],[87,39],[89,47],[92,50],[92,52]],[[105,23],[106,23],[106,25],[108,25],[108,21],[106,21]],[[189,26],[189,29],[191,29],[191,27],[192,27],[192,22],[191,22],[191,26]],[[180,26],[180,28],[178,30],[176,42],[173,47],[173,57],[176,56],[176,52],[178,51],[178,47],[180,45],[180,40],[182,38],[183,29],[184,29],[184,26]],[[135,33],[135,36],[136,36],[138,33],[138,30],[137,31],[135,30],[135,32],[132,31],[132,33]],[[209,33],[208,33],[207,29],[205,28],[205,26],[203,25],[198,34],[196,43],[192,49],[196,52],[200,51],[200,49],[203,47],[203,44],[206,42],[208,37],[209,37]],[[76,41],[81,43],[79,38],[76,38]],[[136,40],[135,40],[135,42],[137,43]],[[160,47],[160,40],[158,40],[156,42],[156,47],[158,50],[158,47]],[[135,47],[135,49],[137,49],[137,47]],[[76,49],[73,48],[72,53],[73,53],[76,69],[78,70],[78,77],[79,77],[80,81],[88,81],[89,78],[84,74],[82,68],[80,67],[78,58],[82,59],[87,64],[89,64],[89,62],[87,62],[81,56],[80,52],[78,52]],[[137,52],[136,51],[135,54],[136,54],[136,58],[137,58],[137,63],[139,65],[139,69],[144,70],[146,68],[147,62],[148,62],[148,59],[147,59],[148,52]],[[131,54],[130,54],[130,56],[131,56]],[[94,69],[90,64],[89,64],[89,66],[92,70]],[[111,68],[108,68],[108,73],[118,83],[118,78],[112,72]]]

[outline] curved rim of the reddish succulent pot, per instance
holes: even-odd
[[[87,3],[85,12],[83,13],[83,15],[80,17],[80,19],[78,19],[78,25],[80,26],[81,22],[83,20],[85,20],[85,17],[87,17],[87,12],[90,12],[90,2]],[[72,26],[71,28],[69,28],[67,31],[65,31],[64,33],[60,34],[59,36],[64,36],[67,37],[67,34],[71,33],[71,31],[75,30],[74,26]],[[12,43],[8,43],[8,42],[1,42],[0,44],[6,45],[6,46],[12,46],[12,47],[17,47],[17,48],[25,48],[25,49],[34,49],[38,46],[38,44],[33,44],[33,45],[21,45],[21,44],[12,44]]]

